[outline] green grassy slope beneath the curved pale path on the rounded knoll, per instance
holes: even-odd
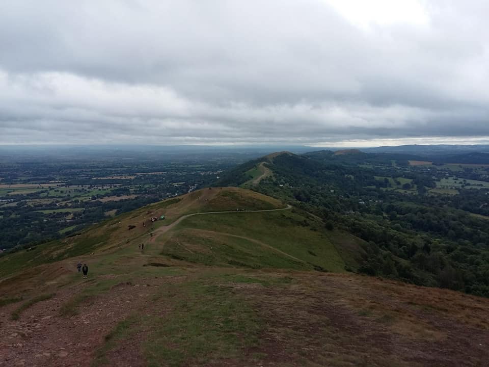
[[[188,231],[186,228],[197,230]],[[254,239],[296,259],[246,239],[222,233]],[[182,243],[192,243],[194,253],[188,250],[185,253]],[[176,246],[179,246],[179,250]],[[211,254],[208,253],[209,247],[212,247]],[[207,265],[224,265],[239,258],[241,264],[251,268],[316,267],[319,270],[342,272],[345,266],[337,249],[328,239],[328,232],[321,228],[320,223],[290,211],[187,218],[177,226],[177,232],[171,241],[165,244],[164,253],[169,254],[172,251],[179,251],[186,259],[196,259],[196,253],[204,256],[207,252]]]

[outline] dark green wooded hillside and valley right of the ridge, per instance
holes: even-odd
[[[455,174],[406,162],[402,154],[356,150],[280,152],[228,174],[242,177],[237,173],[252,172],[251,163],[264,165],[270,173],[244,185],[254,182],[253,190],[362,239],[363,256],[351,269],[489,297],[487,172]]]

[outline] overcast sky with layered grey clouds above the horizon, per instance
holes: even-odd
[[[3,0],[0,144],[489,143],[487,0]]]

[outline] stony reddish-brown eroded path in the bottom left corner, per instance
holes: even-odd
[[[100,278],[107,278],[101,276]],[[20,319],[11,320],[11,312],[18,307],[9,305],[0,309],[0,366],[68,367],[90,366],[97,349],[107,340],[107,335],[117,324],[131,314],[144,314],[151,308],[152,294],[172,277],[140,279],[133,283],[121,279],[104,293],[89,296],[76,305],[73,314],[62,314],[63,307],[82,294],[88,284],[96,279],[57,291],[49,300],[36,303],[21,313]],[[166,310],[159,308],[160,316]],[[138,349],[139,350],[139,349]],[[134,354],[134,353],[132,353]],[[122,356],[123,357],[123,356]],[[126,356],[122,365],[141,355]],[[124,358],[123,358],[124,359]]]

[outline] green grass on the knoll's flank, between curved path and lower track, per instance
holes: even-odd
[[[345,263],[330,242],[329,232],[325,231],[319,223],[307,220],[302,215],[291,211],[195,216],[185,219],[178,224],[177,228],[197,228],[250,238],[296,257],[300,261],[280,253],[274,254],[270,252],[273,250],[268,250],[263,246],[260,249],[259,245],[249,241],[246,243],[236,238],[222,237],[222,235],[218,235],[218,240],[216,240],[218,244],[221,241],[216,249],[218,253],[212,255],[214,256],[212,258],[219,260],[223,256],[259,251],[253,262],[244,262],[244,264],[261,263],[261,267],[274,268],[288,265],[286,268],[315,268],[316,270],[344,272]],[[203,240],[196,238],[194,241],[200,241],[199,246],[206,245],[202,243]],[[188,251],[186,253],[191,254]],[[240,262],[238,258],[235,260]],[[301,261],[306,264],[301,264]],[[239,266],[239,264],[235,265]]]

